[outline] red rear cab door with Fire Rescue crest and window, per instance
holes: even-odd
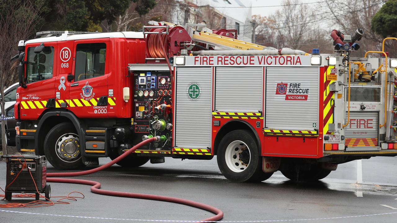
[[[70,110],[80,118],[108,117],[109,38],[76,40],[70,83]]]

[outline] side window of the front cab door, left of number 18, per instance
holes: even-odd
[[[43,51],[39,54],[36,54],[34,50],[35,47],[29,47],[27,49],[27,83],[52,78],[54,47],[45,46]]]

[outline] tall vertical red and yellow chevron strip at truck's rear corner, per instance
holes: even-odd
[[[327,75],[331,73],[331,69],[335,66],[328,66],[326,72],[324,72],[324,117],[323,117],[323,133],[331,134],[328,132],[328,124],[332,123],[333,120],[333,111],[332,111],[332,100],[335,99],[335,95],[333,92],[330,92],[330,84],[335,81],[327,81]]]

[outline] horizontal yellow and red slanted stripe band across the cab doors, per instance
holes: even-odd
[[[91,107],[98,104],[99,98],[93,98],[89,101],[82,98],[56,100],[55,108],[61,108],[61,103],[66,103],[67,107]],[[46,108],[47,101],[21,101],[21,109],[44,109]],[[115,106],[116,98],[108,98],[108,105]]]

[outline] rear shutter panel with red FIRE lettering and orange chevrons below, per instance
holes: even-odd
[[[378,129],[378,112],[350,112],[349,125],[345,127],[346,151],[380,150]]]

